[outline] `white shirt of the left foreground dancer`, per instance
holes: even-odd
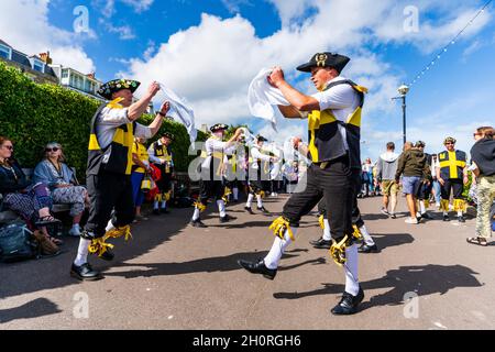
[[[128,117],[128,109],[103,108],[97,118],[98,128],[96,129],[100,147],[105,150],[109,146],[113,141],[117,128],[127,123],[132,123]],[[148,127],[141,123],[135,124],[134,136],[150,139],[152,135],[152,131]]]

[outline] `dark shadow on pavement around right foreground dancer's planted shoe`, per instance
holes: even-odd
[[[474,276],[479,273],[463,265],[418,265],[400,266],[391,270],[385,276],[362,282],[361,286],[366,290],[391,288],[385,294],[372,296],[369,301],[362,304],[362,310],[374,306],[396,306],[404,304],[404,296],[414,293],[418,296],[433,294],[444,295],[457,287],[481,287],[483,286]],[[326,284],[323,287],[305,293],[275,293],[277,299],[299,299],[319,295],[342,294],[344,285]]]

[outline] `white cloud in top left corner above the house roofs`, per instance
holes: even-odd
[[[48,0],[0,1],[0,38],[15,50],[34,55],[51,52],[54,64],[74,67],[82,73],[95,72],[95,63],[80,43],[91,37],[52,25]],[[21,22],[20,22],[21,21]]]

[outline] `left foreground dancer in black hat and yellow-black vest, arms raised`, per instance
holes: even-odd
[[[134,219],[131,184],[134,136],[152,138],[169,109],[169,103],[165,102],[148,127],[138,123],[160,90],[160,85],[153,82],[144,96],[133,103],[133,92],[139,86],[135,80],[116,79],[98,90],[100,96],[111,101],[97,110],[90,125],[86,179],[90,199],[89,219],[70,270],[70,275],[81,280],[102,278],[88,263],[88,253],[111,261],[113,253],[109,249],[113,245],[106,243],[107,239],[125,235],[128,240],[130,237],[129,224]]]

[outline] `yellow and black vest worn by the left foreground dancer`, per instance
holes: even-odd
[[[88,175],[98,175],[101,167],[107,172],[131,175],[135,122],[118,127],[112,142],[105,148],[101,148],[97,139],[97,120],[101,111],[105,108],[123,109],[120,101],[122,98],[102,105],[92,117],[88,146]]]

